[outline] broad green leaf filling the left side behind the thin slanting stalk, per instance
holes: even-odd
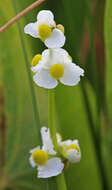
[[[13,6],[5,0],[1,2],[1,7],[0,17],[6,22],[14,16]],[[5,187],[9,189],[36,190],[38,187],[42,190],[46,188],[47,180],[37,179],[37,170],[32,169],[29,164],[29,150],[40,143],[37,134],[40,123],[38,119],[35,122],[35,110],[32,104],[34,96],[32,97],[29,85],[17,24],[8,28],[0,37],[0,72],[2,72],[6,115],[4,147],[6,157],[4,173],[1,175],[6,178]],[[28,56],[31,56],[28,47],[26,51]],[[30,71],[30,65],[28,67]]]

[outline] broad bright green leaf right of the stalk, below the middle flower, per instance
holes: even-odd
[[[87,85],[92,116],[96,117],[94,107],[95,97],[90,86]],[[99,170],[92,136],[88,124],[87,112],[80,86],[59,86],[56,94],[56,107],[58,115],[58,129],[63,139],[78,139],[82,159],[78,164],[71,164],[65,171],[68,189],[101,189]],[[93,180],[94,179],[94,180]],[[80,183],[79,183],[80,182]]]

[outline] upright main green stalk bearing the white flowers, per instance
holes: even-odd
[[[48,127],[55,149],[58,144],[56,139],[56,121],[55,121],[55,89],[48,90]],[[58,190],[67,190],[64,174],[61,173],[56,177]]]

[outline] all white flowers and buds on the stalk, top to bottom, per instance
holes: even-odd
[[[40,38],[48,49],[32,59],[31,70],[34,82],[46,89],[55,88],[59,82],[75,86],[84,76],[84,70],[72,62],[72,57],[62,47],[65,44],[64,27],[56,24],[54,15],[49,10],[40,11],[37,21],[25,26],[24,32],[34,38]],[[38,170],[38,178],[59,175],[66,163],[76,163],[81,159],[78,140],[62,141],[59,133],[55,134],[55,149],[49,128],[41,128],[42,147],[30,150],[30,164]]]

